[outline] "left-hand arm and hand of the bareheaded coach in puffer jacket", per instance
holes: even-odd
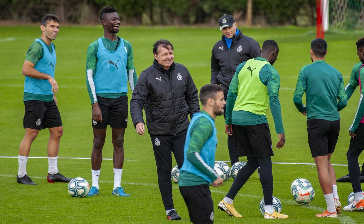
[[[142,72],[139,75],[137,84],[131,94],[130,100],[130,115],[135,127],[135,131],[139,135],[144,135],[145,123],[143,119],[143,108],[149,94],[149,84],[147,81],[147,72]]]

